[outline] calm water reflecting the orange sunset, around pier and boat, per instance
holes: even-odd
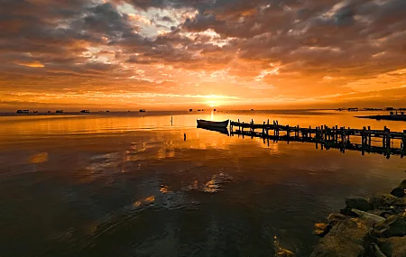
[[[1,256],[272,256],[274,236],[308,256],[315,222],[345,197],[391,190],[406,160],[268,146],[198,129],[196,119],[406,129],[353,115],[1,116]]]

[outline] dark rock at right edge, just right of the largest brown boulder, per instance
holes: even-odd
[[[383,223],[374,227],[374,234],[380,237],[406,235],[406,217],[390,216]]]

